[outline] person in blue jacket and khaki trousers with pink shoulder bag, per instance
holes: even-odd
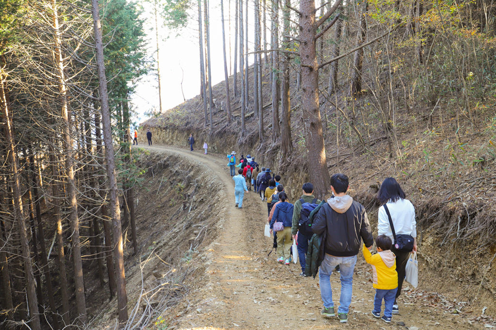
[[[293,224],[293,204],[288,203],[288,195],[284,191],[279,193],[279,201],[276,204],[274,215],[270,220],[270,231],[274,227],[274,222],[282,222],[284,229],[277,232],[277,262],[284,262],[286,265],[291,263],[291,226]]]

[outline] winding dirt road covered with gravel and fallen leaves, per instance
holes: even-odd
[[[156,153],[173,153],[205,165],[224,184],[226,219],[215,241],[204,252],[206,284],[188,295],[190,308],[179,320],[179,329],[481,329],[484,322],[465,314],[465,305],[436,293],[411,291],[406,286],[399,299],[400,315],[385,324],[371,315],[374,289],[370,266],[359,254],[353,279],[348,324],[320,315],[322,301],[318,276],[301,277],[300,265],[276,263],[267,254],[272,239],[263,236],[266,203],[253,191],[245,194],[243,209],[234,206],[234,183],[227,159],[165,146],[145,147]],[[284,183],[284,177],[281,180]],[[334,303],[339,304],[339,274],[331,275]],[[463,306],[456,307],[456,306]],[[458,308],[461,313],[454,312]],[[457,314],[455,314],[457,313]],[[475,313],[475,312],[474,312]],[[477,313],[476,313],[477,314]]]

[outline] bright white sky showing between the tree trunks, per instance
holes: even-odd
[[[196,2],[196,1],[194,1]],[[202,1],[203,2],[203,1]],[[231,3],[231,53],[234,55],[234,9],[235,2],[224,0],[224,15],[226,25],[226,50],[229,53],[229,2]],[[142,3],[145,6],[144,16],[146,18],[145,30],[148,34],[148,54],[156,58],[155,48],[155,20],[152,7],[149,3]],[[149,7],[147,7],[149,6]],[[245,6],[243,8],[245,15]],[[183,80],[183,90],[185,98],[190,99],[199,94],[200,91],[200,55],[198,48],[198,21],[197,7],[190,10],[190,19],[186,28],[181,31],[170,31],[164,26],[159,26],[160,41],[160,74],[162,88],[162,108],[171,109],[184,102],[181,92],[181,80]],[[268,15],[268,12],[267,12]],[[267,17],[268,18],[268,17]],[[248,52],[253,50],[253,1],[248,3]],[[212,69],[212,85],[224,80],[224,58],[222,49],[222,25],[221,10],[219,0],[210,0],[210,57]],[[267,24],[269,20],[267,19]],[[159,18],[159,25],[160,18]],[[169,38],[167,38],[167,36]],[[267,38],[270,34],[267,31]],[[238,41],[239,42],[239,41]],[[262,41],[263,42],[263,41]],[[206,54],[205,54],[206,56]],[[249,62],[252,62],[253,55],[250,55]],[[206,57],[205,57],[206,58]],[[229,70],[229,56],[228,70]],[[234,60],[231,60],[231,67]],[[238,64],[239,66],[239,64]],[[184,70],[184,75],[183,71]],[[232,73],[232,71],[231,71]],[[138,82],[135,93],[131,97],[133,109],[136,112],[133,118],[137,124],[147,118],[144,112],[150,111],[153,107],[159,109],[158,82],[156,70],[150,72],[147,77]]]

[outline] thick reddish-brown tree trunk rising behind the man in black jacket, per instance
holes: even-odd
[[[310,181],[315,185],[316,196],[323,197],[329,189],[330,176],[327,171],[322,120],[318,102],[318,63],[315,42],[335,22],[334,19],[316,34],[320,27],[341,4],[334,5],[318,21],[315,21],[315,1],[300,2],[300,58],[302,72],[302,111],[305,123],[305,145],[307,147],[307,164]]]

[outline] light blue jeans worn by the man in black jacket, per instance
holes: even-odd
[[[332,288],[330,276],[334,268],[339,265],[341,269],[341,296],[339,297],[338,313],[348,313],[351,304],[353,270],[357,263],[357,256],[332,257],[325,254],[322,265],[318,270],[318,283],[320,285],[320,297],[325,308],[334,307],[332,302]]]

